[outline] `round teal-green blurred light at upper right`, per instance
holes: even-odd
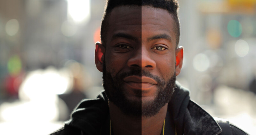
[[[230,20],[228,22],[228,33],[233,37],[238,37],[242,33],[242,25],[237,20]]]

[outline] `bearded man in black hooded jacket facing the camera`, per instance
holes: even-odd
[[[81,101],[52,135],[246,134],[218,124],[175,83],[183,60],[177,9],[174,0],[107,1],[95,48],[105,91]]]

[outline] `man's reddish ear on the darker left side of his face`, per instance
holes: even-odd
[[[97,42],[95,44],[95,65],[97,69],[102,72],[103,71],[103,60],[104,60],[104,54],[105,54],[105,46],[100,44],[100,42]]]

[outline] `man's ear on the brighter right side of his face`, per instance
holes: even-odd
[[[176,55],[176,65],[175,65],[175,75],[178,76],[180,74],[181,68],[182,68],[182,62],[183,62],[183,46],[180,46],[178,49],[175,51]]]

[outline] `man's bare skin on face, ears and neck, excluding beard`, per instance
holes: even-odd
[[[167,10],[148,6],[116,7],[111,12],[108,23],[106,46],[97,42],[95,48],[95,64],[99,71],[103,71],[105,57],[106,70],[111,75],[132,67],[148,70],[165,81],[174,73],[176,76],[180,74],[183,47],[176,49],[174,20]],[[157,93],[157,84],[143,82],[143,79],[141,82],[128,81],[125,85],[126,98],[141,101],[142,106],[153,100]],[[136,96],[131,91],[132,88],[140,88],[141,97]],[[110,101],[113,132],[116,135],[160,135],[167,105],[155,116],[138,118],[125,115]]]

